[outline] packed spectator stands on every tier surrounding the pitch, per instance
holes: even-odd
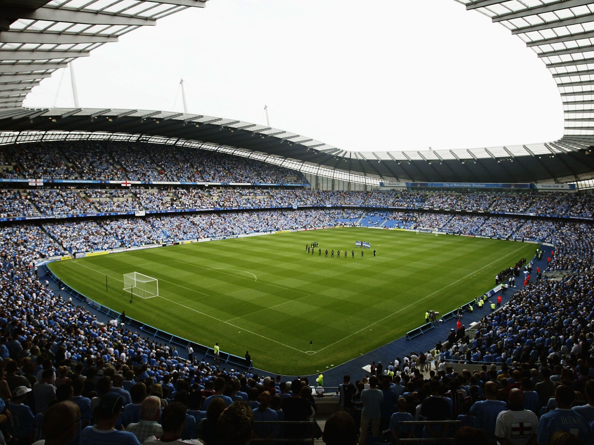
[[[21,179],[33,175],[41,179],[73,181],[68,188],[52,182],[45,182],[43,187],[6,182],[0,191],[0,217],[6,218],[0,244],[3,370],[0,381],[6,382],[13,398],[23,392],[19,386],[33,387],[33,395],[26,396],[25,400],[37,416],[31,425],[40,425],[44,415],[49,415],[49,411],[40,408],[45,406],[46,400],[39,395],[39,390],[35,390],[42,384],[55,385],[56,402],[64,400],[60,387],[72,386],[75,393],[72,400],[80,402],[81,406],[101,403],[100,398],[105,397],[108,390],[124,395],[126,400],[129,393],[131,403],[124,406],[125,413],[140,406],[143,398],[151,393],[159,394],[163,404],[182,402],[196,423],[195,429],[189,428],[182,436],[187,439],[208,437],[208,421],[205,420],[208,414],[203,404],[209,405],[210,401],[206,400],[211,400],[213,394],[225,403],[244,402],[252,397],[252,406],[257,409],[258,397],[268,391],[273,396],[272,408],[268,408],[268,399],[264,396],[266,406],[261,412],[271,409],[279,418],[279,414],[284,415],[283,398],[294,393],[294,390],[287,392],[287,382],[270,384],[269,377],[265,379],[248,368],[240,369],[241,365],[228,371],[208,361],[206,356],[187,361],[187,353],[184,352],[182,357],[173,345],[151,336],[159,335],[157,329],[134,332],[134,327],[125,323],[129,320],[119,314],[115,314],[120,318],[118,322],[106,323],[101,312],[96,312],[93,307],[77,306],[71,298],[56,294],[55,287],[39,281],[35,264],[40,259],[177,240],[342,224],[410,230],[436,228],[448,234],[536,241],[554,246],[551,247],[554,254],[545,254],[552,257],[543,268],[545,275],[539,274],[538,280],[520,288],[503,307],[482,317],[473,326],[473,338],[456,332],[453,337],[443,339],[441,350],[412,352],[390,357],[387,361],[382,357],[388,365],[381,372],[376,368],[374,378],[380,388],[377,391],[384,398],[380,412],[381,428],[386,434],[397,435],[400,431],[407,437],[408,434],[427,437],[426,429],[398,422],[403,419],[437,420],[424,413],[431,396],[439,396],[448,406],[447,414],[440,417],[441,420],[475,425],[489,438],[494,438],[496,434],[503,434],[499,412],[507,411],[504,403],[497,405],[499,411],[484,411],[484,403],[491,403],[484,399],[507,402],[510,397],[511,403],[511,396],[516,394],[511,390],[517,388],[525,397],[526,401],[522,403],[535,415],[535,423],[539,418],[548,422],[547,411],[555,412],[556,406],[567,403],[570,408],[573,405],[584,419],[591,416],[588,410],[594,408],[587,403],[594,402],[594,394],[592,383],[587,380],[593,377],[591,370],[594,369],[591,358],[594,352],[591,323],[594,317],[594,278],[591,275],[594,246],[592,226],[587,218],[593,217],[592,195],[534,190],[523,193],[339,192],[311,190],[304,186],[255,186],[263,180],[284,184],[291,180],[305,184],[305,180],[296,172],[264,167],[252,160],[234,160],[214,152],[206,152],[201,169],[197,170],[191,167],[196,161],[195,152],[181,150],[166,154],[163,147],[154,144],[121,150],[115,142],[110,142],[107,150],[99,144],[85,147],[80,150],[77,144],[55,143],[31,145],[27,151],[24,146],[19,146],[3,154],[7,165],[14,165],[14,171],[24,172]],[[229,174],[238,171],[241,174]],[[125,187],[117,183],[85,182],[91,178],[118,182],[139,179],[193,181],[198,177],[204,182],[230,182],[229,178],[232,178],[249,185],[134,184]],[[210,211],[213,208],[223,210]],[[252,208],[254,210],[249,210]],[[185,213],[171,214],[180,210]],[[139,211],[153,213],[135,218],[122,215],[89,220],[84,217]],[[56,215],[61,219],[10,220]],[[546,275],[557,272],[564,275],[561,278]],[[105,313],[114,316],[109,309]],[[455,316],[453,312],[444,318]],[[418,332],[411,331],[410,338],[432,328],[433,325],[428,323],[417,329]],[[212,351],[206,349],[201,353],[212,354]],[[450,366],[475,367],[456,371]],[[43,377],[45,368],[51,370],[48,374],[55,375],[50,377],[49,383]],[[24,379],[19,379],[18,374]],[[339,388],[340,403],[353,415],[356,427],[361,426],[362,409],[366,403],[365,396],[362,397],[366,376],[360,378],[361,382],[351,390],[347,391],[345,386]],[[53,379],[55,383],[52,384]],[[305,384],[301,382],[305,380],[293,384]],[[366,384],[371,383],[375,380]],[[155,384],[160,384],[161,392]],[[558,385],[558,397],[552,388],[554,384]],[[565,386],[574,391],[569,402],[561,396]],[[19,412],[15,406],[20,400],[18,396],[11,400],[5,393],[3,398],[9,411],[12,408]],[[87,402],[84,398],[91,400]],[[88,408],[82,411],[81,427],[96,420]],[[258,414],[260,419],[275,418],[272,414],[266,417],[261,412]],[[138,411],[128,417],[125,415],[122,425],[126,427],[140,421],[139,416]],[[584,421],[583,431],[591,433],[587,423]],[[266,431],[271,432],[272,437],[295,438],[286,434],[291,431],[287,426]],[[454,431],[457,426],[451,428]],[[28,443],[44,437],[43,428],[39,427],[26,431],[0,427],[0,431],[7,442],[19,438],[20,443]],[[264,430],[259,428],[258,431]],[[584,434],[581,431],[579,434]]]

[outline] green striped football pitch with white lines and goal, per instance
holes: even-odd
[[[373,251],[355,246],[368,241]],[[317,241],[318,256],[305,253]],[[340,250],[340,258],[324,250]],[[344,257],[345,249],[349,252]],[[355,250],[352,258],[351,251]],[[147,325],[279,374],[326,370],[380,347],[492,288],[534,244],[370,228],[331,228],[62,260],[66,284]],[[159,296],[124,294],[123,274],[159,280]],[[106,275],[108,289],[106,290]],[[312,342],[310,344],[310,342]]]

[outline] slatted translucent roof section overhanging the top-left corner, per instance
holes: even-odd
[[[208,0],[0,0],[0,109],[78,57]]]

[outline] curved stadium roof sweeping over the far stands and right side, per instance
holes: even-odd
[[[358,151],[340,150],[305,135],[296,135],[280,129],[267,128],[239,120],[220,117],[168,113],[151,110],[99,110],[99,109],[40,109],[26,110],[16,107],[23,96],[15,93],[12,98],[0,97],[1,131],[65,131],[101,132],[102,134],[131,134],[163,136],[162,140],[201,141],[219,147],[233,147],[248,152],[262,152],[273,157],[291,158],[303,164],[301,170],[311,171],[311,167],[328,167],[339,173],[330,174],[324,170],[323,176],[345,177],[358,182],[377,183],[382,180],[415,180],[429,182],[573,182],[592,177],[594,172],[594,2],[584,0],[546,1],[546,0],[457,0],[467,9],[476,9],[501,23],[517,34],[526,45],[532,48],[545,62],[560,88],[564,107],[565,129],[561,139],[539,144],[519,144],[491,148],[460,148],[457,150],[397,150],[397,151]],[[16,4],[5,1],[0,4]],[[23,2],[19,2],[22,4]],[[25,2],[36,7],[36,1]],[[102,7],[110,4],[135,4],[135,14],[149,14],[140,4],[153,4],[134,0],[53,0],[41,1],[47,5],[40,9],[57,12],[68,5],[82,4],[88,7]],[[127,17],[127,12],[113,12],[115,17],[135,18],[150,21],[160,14],[170,14],[179,9],[203,2],[199,0],[161,1],[161,11],[139,18]],[[166,9],[168,5],[178,5],[177,9]],[[110,7],[112,8],[112,7]],[[154,8],[157,8],[156,6]],[[36,9],[35,13],[40,9]],[[100,9],[100,8],[97,8]],[[69,10],[68,10],[69,11]],[[86,9],[79,11],[85,12]],[[77,11],[77,12],[79,12]],[[150,11],[150,10],[149,10]],[[105,11],[102,11],[103,13]],[[31,12],[30,12],[31,13]],[[22,20],[22,19],[20,19]],[[33,20],[33,19],[28,19]],[[62,19],[61,19],[62,20]],[[34,20],[33,20],[34,21]],[[60,23],[56,20],[53,22]],[[52,23],[53,23],[52,22]],[[33,25],[31,25],[33,26]],[[130,24],[130,27],[140,25]],[[93,28],[89,28],[93,29]],[[129,29],[125,31],[129,31]],[[46,34],[51,27],[37,30]],[[27,30],[24,30],[27,31]],[[87,30],[88,31],[88,30]],[[83,32],[80,31],[79,32]],[[118,33],[119,32],[119,33]],[[21,32],[21,34],[28,34]],[[113,35],[121,35],[116,31]],[[0,32],[0,40],[4,36]],[[17,34],[17,33],[15,33]],[[62,35],[62,34],[56,34]],[[92,47],[102,45],[96,42]],[[4,46],[0,47],[0,57]],[[44,49],[50,51],[50,49]],[[62,48],[61,50],[69,51]],[[7,49],[8,51],[8,49]],[[12,49],[30,53],[20,46]],[[61,59],[66,61],[67,58]],[[34,61],[29,61],[33,63]],[[45,61],[50,63],[49,59]],[[44,63],[45,63],[44,62]],[[53,63],[53,62],[51,62]],[[64,62],[67,63],[67,62]],[[20,65],[20,61],[11,61]],[[0,68],[4,61],[0,61]],[[50,70],[48,69],[48,72]],[[49,75],[49,74],[48,74]],[[18,84],[7,81],[5,74],[0,79],[2,88]],[[29,91],[30,87],[23,91]],[[13,96],[11,94],[11,96]],[[20,97],[20,98],[18,98]],[[0,112],[2,110],[0,109]],[[365,122],[360,122],[364,125]],[[38,134],[39,136],[40,134]],[[23,134],[5,137],[4,141],[30,139]],[[52,133],[52,138],[56,138]],[[42,136],[39,136],[42,137]],[[66,137],[66,136],[65,136]],[[23,139],[24,138],[24,139]],[[154,140],[154,139],[153,139]]]

